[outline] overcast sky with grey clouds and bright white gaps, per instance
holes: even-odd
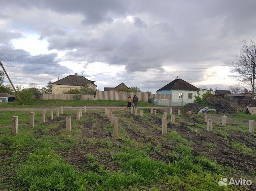
[[[142,91],[178,78],[228,89],[255,0],[0,0],[0,58],[15,85],[77,72],[97,88]],[[9,83],[7,78],[5,83]]]

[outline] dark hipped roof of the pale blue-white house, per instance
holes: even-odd
[[[196,86],[193,86],[192,84],[180,78],[173,80],[172,82],[170,82],[169,84],[165,85],[164,87],[160,88],[157,91],[162,91],[162,90],[199,91],[199,89]]]

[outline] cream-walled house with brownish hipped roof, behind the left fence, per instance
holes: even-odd
[[[56,82],[52,83],[52,93],[53,94],[63,94],[69,89],[80,89],[81,86],[88,85],[90,88],[96,89],[97,85],[94,84],[95,81],[88,80],[82,75],[69,75],[62,78]]]

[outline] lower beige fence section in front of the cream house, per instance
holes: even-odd
[[[43,94],[43,100],[95,100],[95,97],[80,94]]]

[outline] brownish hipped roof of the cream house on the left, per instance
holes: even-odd
[[[53,82],[52,84],[57,85],[77,85],[77,86],[83,86],[85,84],[89,86],[96,86],[94,84],[95,81],[91,81],[83,77],[82,75],[69,75],[65,78],[62,78],[60,80],[57,80],[56,82]]]

